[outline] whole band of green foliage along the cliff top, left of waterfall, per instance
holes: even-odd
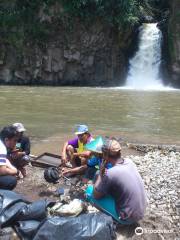
[[[74,18],[84,23],[98,18],[117,29],[131,27],[138,23],[145,1],[2,0],[0,42],[18,45],[28,39],[40,43],[48,39],[55,24],[68,25],[69,22],[74,23]],[[56,9],[57,5],[60,6],[59,10]],[[42,18],[42,13],[46,17]]]

